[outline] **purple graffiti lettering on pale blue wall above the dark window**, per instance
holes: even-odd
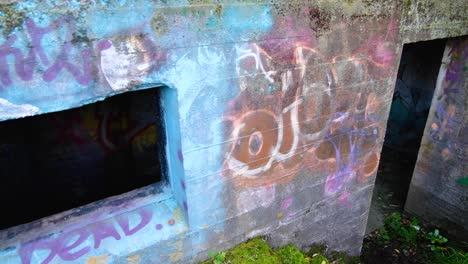
[[[41,74],[46,82],[54,81],[62,72],[68,72],[80,85],[88,85],[92,80],[92,56],[93,49],[97,52],[110,48],[108,41],[102,40],[95,47],[83,48],[74,43],[76,28],[70,17],[59,18],[46,27],[37,26],[33,20],[25,22],[25,34],[29,38],[27,51],[23,53],[15,47],[20,41],[20,36],[11,35],[0,45],[0,82],[1,89],[13,85],[13,76],[20,80],[31,81],[34,74]],[[60,50],[50,52],[44,43],[49,34],[63,36]],[[63,35],[62,35],[63,34]],[[21,45],[21,44],[20,44]],[[52,53],[52,54],[47,54]],[[9,63],[9,58],[14,63]]]

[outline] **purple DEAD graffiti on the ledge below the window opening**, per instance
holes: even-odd
[[[137,222],[135,222],[135,217],[138,218]],[[152,222],[157,222],[157,224],[153,225]],[[142,230],[148,231],[149,228],[161,231],[164,226],[166,228],[175,226],[176,222],[176,219],[169,219],[166,223],[161,223],[153,216],[150,209],[141,208],[135,213],[119,215],[110,220],[61,233],[55,238],[24,243],[19,249],[19,255],[23,264],[32,263],[33,259],[35,263],[38,257],[35,253],[43,250],[48,253],[41,255],[43,259],[37,262],[47,264],[56,258],[62,261],[73,261],[92,250],[99,249],[107,240],[119,241]]]

